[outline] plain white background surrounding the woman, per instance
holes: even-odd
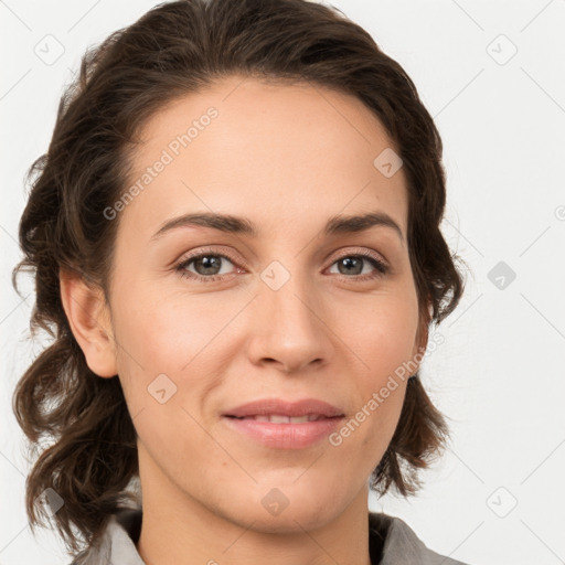
[[[565,1],[332,3],[404,66],[435,117],[448,173],[443,228],[471,270],[423,370],[450,418],[450,449],[416,498],[372,495],[371,509],[472,565],[565,563]],[[22,301],[10,285],[23,175],[46,150],[85,49],[154,4],[0,1],[1,565],[70,562],[53,534],[34,539],[26,525],[28,466],[11,412],[41,350],[28,341],[32,287],[22,277]],[[64,47],[53,64],[34,52],[47,34]],[[515,273],[503,288],[497,271],[489,278],[499,262]]]

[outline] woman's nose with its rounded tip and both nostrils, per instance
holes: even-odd
[[[328,306],[303,276],[290,276],[277,290],[260,281],[249,318],[249,360],[287,374],[329,363],[333,354],[329,317]]]

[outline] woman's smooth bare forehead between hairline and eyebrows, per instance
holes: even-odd
[[[226,77],[175,98],[145,125],[128,178],[139,195],[122,220],[157,230],[181,212],[214,211],[273,227],[383,210],[405,232],[404,171],[383,174],[375,164],[383,151],[397,149],[354,96]]]

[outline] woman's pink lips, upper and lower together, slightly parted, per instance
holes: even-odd
[[[245,416],[306,416],[317,414],[323,419],[299,424],[274,424],[254,419],[237,419]],[[280,398],[263,398],[226,411],[222,420],[230,429],[243,434],[259,444],[278,449],[302,449],[317,444],[331,434],[344,418],[335,406],[316,398],[285,402]]]

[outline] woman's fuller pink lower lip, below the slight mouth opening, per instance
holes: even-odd
[[[273,424],[255,419],[223,417],[224,422],[236,431],[260,444],[279,449],[300,449],[309,447],[328,436],[342,422],[343,416],[324,418],[300,424]]]

